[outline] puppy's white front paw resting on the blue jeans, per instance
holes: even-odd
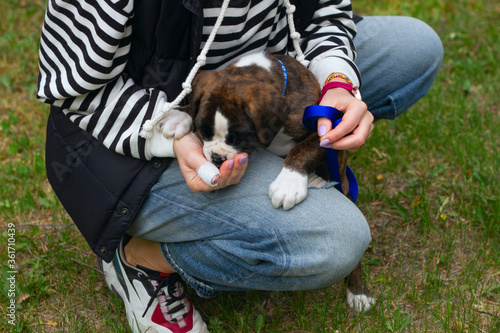
[[[287,168],[269,186],[269,198],[274,208],[283,206],[288,210],[300,203],[307,196],[307,175],[302,175]]]

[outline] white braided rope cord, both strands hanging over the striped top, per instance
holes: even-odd
[[[174,99],[170,103],[165,103],[163,108],[156,114],[152,119],[146,120],[144,122],[144,125],[142,126],[142,130],[139,133],[139,135],[145,139],[150,139],[153,134],[153,128],[160,122],[160,120],[165,117],[165,115],[170,112],[173,108],[177,107],[184,98],[186,98],[187,95],[191,93],[192,86],[191,83],[194,80],[194,77],[198,73],[201,67],[203,67],[206,64],[207,61],[207,53],[210,47],[212,46],[212,43],[215,40],[215,36],[217,35],[217,31],[219,30],[220,26],[222,25],[222,21],[224,19],[224,16],[226,15],[226,10],[229,6],[230,0],[224,0],[222,3],[222,7],[219,13],[219,16],[217,17],[217,21],[215,22],[214,28],[210,32],[210,35],[208,37],[207,42],[205,43],[205,46],[200,52],[200,55],[198,58],[196,58],[196,64],[193,66],[191,71],[189,72],[188,77],[186,78],[186,81],[182,83],[182,91],[177,96],[176,99]],[[283,3],[285,4],[286,7],[286,14],[287,14],[287,19],[288,19],[288,29],[290,30],[290,38],[292,38],[293,42],[293,47],[295,49],[295,52],[297,53],[296,59],[304,66],[307,66],[307,61],[305,60],[304,53],[302,52],[300,45],[299,45],[299,40],[300,40],[300,33],[298,33],[295,30],[295,24],[293,22],[293,13],[295,12],[295,6],[290,3],[290,0],[283,0]]]

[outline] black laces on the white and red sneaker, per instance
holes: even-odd
[[[142,314],[142,317],[146,315],[154,300],[162,295],[165,295],[165,301],[159,303],[160,307],[166,307],[168,309],[168,311],[166,312],[166,317],[168,317],[166,318],[167,320],[177,321],[177,318],[179,316],[174,315],[176,313],[179,313],[181,310],[185,310],[183,311],[184,313],[182,314],[182,317],[185,318],[187,316],[189,308],[186,309],[186,304],[184,304],[184,302],[182,301],[186,297],[187,286],[178,274],[151,279],[151,284],[155,287],[155,293],[153,294],[153,296],[151,296],[151,299],[149,300],[148,305],[146,306],[146,310]],[[165,289],[167,289],[168,297],[165,294]],[[180,294],[178,294],[179,289],[181,289]],[[163,309],[162,312],[164,313]]]

